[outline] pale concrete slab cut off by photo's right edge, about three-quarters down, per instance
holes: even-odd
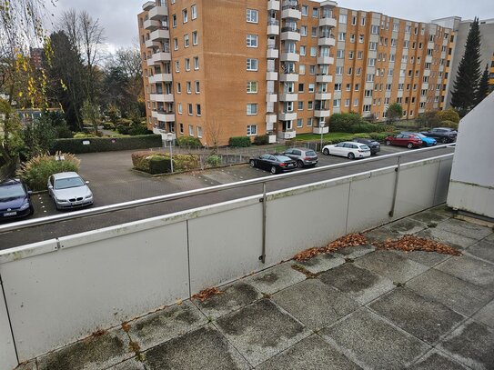
[[[489,262],[461,255],[459,257],[451,257],[448,261],[434,268],[471,284],[494,291],[494,265],[489,264]]]

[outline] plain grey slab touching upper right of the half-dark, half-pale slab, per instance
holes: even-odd
[[[357,310],[360,305],[318,279],[307,279],[272,296],[288,314],[318,331]]]

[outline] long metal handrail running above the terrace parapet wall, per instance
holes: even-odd
[[[104,206],[100,206],[100,207],[96,207],[96,208],[85,209],[85,210],[76,211],[76,212],[70,212],[70,213],[67,213],[64,215],[51,215],[51,216],[47,216],[47,217],[40,217],[40,218],[31,219],[31,220],[19,221],[19,222],[15,222],[15,223],[8,224],[8,225],[0,225],[0,233],[25,229],[27,227],[32,227],[35,225],[48,225],[48,224],[53,224],[56,222],[72,220],[72,219],[86,217],[86,216],[90,216],[90,215],[103,215],[103,214],[107,214],[110,212],[116,212],[116,211],[121,211],[121,210],[129,209],[129,208],[134,208],[137,206],[154,205],[156,203],[163,203],[163,202],[177,200],[177,199],[184,199],[184,198],[187,198],[189,196],[194,196],[194,195],[205,195],[205,194],[215,193],[215,192],[221,191],[221,190],[236,189],[238,187],[247,186],[247,185],[263,185],[264,192],[266,192],[267,183],[277,181],[281,178],[291,178],[291,177],[303,176],[303,175],[312,174],[312,173],[324,172],[324,171],[328,171],[328,170],[332,170],[332,169],[336,169],[336,168],[341,168],[341,167],[345,167],[345,166],[353,166],[353,165],[361,165],[363,163],[377,162],[377,161],[380,161],[380,160],[385,159],[385,158],[397,158],[397,165],[395,165],[395,166],[397,167],[396,171],[398,173],[399,167],[403,163],[403,161],[401,160],[401,158],[403,158],[403,157],[413,155],[415,153],[427,152],[427,151],[437,150],[439,148],[449,148],[449,147],[454,147],[454,146],[455,146],[455,144],[437,145],[437,146],[430,147],[430,148],[415,149],[412,152],[396,153],[396,154],[391,154],[391,155],[379,155],[378,157],[361,159],[361,160],[355,161],[355,162],[345,162],[345,163],[341,163],[341,164],[337,164],[337,165],[325,165],[322,167],[309,168],[309,169],[306,169],[303,171],[297,171],[297,172],[292,172],[292,173],[288,173],[288,174],[281,174],[281,175],[274,175],[271,177],[262,177],[262,178],[255,178],[255,179],[251,179],[251,180],[239,181],[239,182],[233,183],[233,184],[216,185],[216,186],[211,186],[211,187],[207,187],[207,188],[188,190],[186,192],[181,192],[181,193],[176,193],[176,194],[171,194],[171,195],[158,195],[158,196],[153,196],[150,198],[138,199],[138,200],[125,202],[125,203],[119,203],[116,205],[104,205]],[[440,156],[440,155],[438,155],[438,156]],[[264,196],[266,197],[266,193],[264,194]],[[394,197],[396,197],[396,194]]]

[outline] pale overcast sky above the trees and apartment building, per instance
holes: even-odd
[[[205,4],[208,1],[214,0],[204,0]],[[70,8],[86,9],[105,27],[106,42],[111,50],[136,42],[137,14],[142,11],[144,3],[145,0],[57,0],[55,9],[48,10],[56,18]],[[474,16],[494,18],[492,0],[345,0],[338,1],[338,5],[420,22],[451,15],[462,19],[473,19]]]

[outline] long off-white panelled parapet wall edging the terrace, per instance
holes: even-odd
[[[0,252],[0,368],[438,205],[451,157],[401,166],[394,217],[394,166],[269,193],[266,265],[260,195]]]

